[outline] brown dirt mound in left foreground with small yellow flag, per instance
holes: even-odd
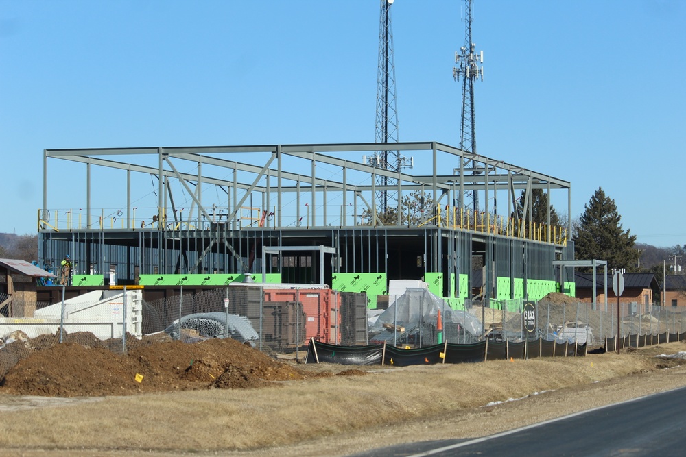
[[[79,343],[71,342],[74,340]],[[231,339],[187,344],[131,338],[131,344],[127,342],[128,354],[106,349],[107,341],[86,334],[74,334],[64,341],[68,342],[56,344],[54,335],[47,335],[12,343],[21,345],[24,351],[28,347],[33,350],[8,369],[0,382],[0,393],[58,397],[132,395],[261,387],[307,377],[294,367]],[[16,360],[13,354],[12,347],[5,347],[0,351],[0,359],[8,355]]]

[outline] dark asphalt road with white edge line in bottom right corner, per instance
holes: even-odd
[[[477,439],[409,443],[358,457],[674,456],[686,449],[686,388]]]

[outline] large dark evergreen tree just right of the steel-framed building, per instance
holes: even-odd
[[[578,231],[573,235],[578,260],[606,260],[608,269],[637,269],[639,251],[634,248],[636,236],[622,229],[622,219],[615,201],[598,188],[584,206]]]

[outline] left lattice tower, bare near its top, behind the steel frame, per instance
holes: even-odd
[[[394,0],[381,0],[379,19],[379,69],[377,71],[377,116],[375,143],[398,142],[398,103],[395,86],[395,58],[393,53],[393,26],[391,6]],[[380,169],[399,172],[403,167],[412,167],[412,159],[407,160],[399,151],[376,151],[374,156],[366,158],[368,164]],[[397,186],[397,180],[387,176],[376,179],[378,186],[385,190],[377,192],[377,201],[381,212],[386,212],[389,205],[398,201],[398,193],[386,190],[388,186]]]

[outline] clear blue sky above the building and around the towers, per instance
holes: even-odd
[[[392,6],[401,141],[459,143],[463,5]],[[681,0],[475,0],[479,153],[685,245],[685,23]],[[373,141],[378,36],[377,0],[0,0],[0,232],[36,232],[43,149]]]

